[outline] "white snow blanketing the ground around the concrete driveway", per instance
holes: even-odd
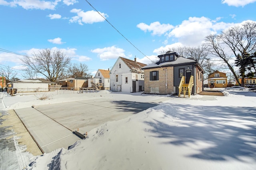
[[[69,149],[34,156],[28,170],[254,170],[256,93],[221,90],[225,96],[145,95],[103,90],[97,93],[4,95],[6,109],[108,98],[160,105],[119,121],[106,122]]]

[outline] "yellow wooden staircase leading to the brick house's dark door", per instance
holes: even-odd
[[[190,98],[193,86],[194,86],[194,76],[190,76],[188,84],[185,83],[185,76],[182,76],[180,80],[180,86],[179,86],[179,97],[182,95],[184,98],[185,96]]]

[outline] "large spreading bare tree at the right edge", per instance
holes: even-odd
[[[242,25],[230,27],[222,31],[220,35],[208,35],[206,36],[206,45],[210,48],[212,55],[220,57],[227,64],[238,84],[244,86],[246,64],[237,64],[240,67],[239,70],[242,77],[240,83],[230,59],[235,57],[235,59],[243,63],[248,54],[253,54],[256,51],[256,22],[248,21]],[[228,54],[225,47],[228,47],[232,54]],[[255,68],[254,63],[249,64],[252,64]]]

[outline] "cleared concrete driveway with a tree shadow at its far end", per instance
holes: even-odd
[[[15,112],[38,147],[48,153],[61,147],[67,149],[80,140],[74,135],[75,130],[85,133],[157,105],[100,98],[15,109]]]

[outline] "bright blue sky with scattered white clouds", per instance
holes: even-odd
[[[256,21],[256,0],[88,2],[0,0],[0,67],[12,67],[19,77],[22,56],[5,50],[31,55],[50,48],[62,50],[72,63],[87,64],[95,75],[98,69],[111,69],[119,56],[131,60],[136,56],[137,61],[149,64],[161,51],[197,47],[211,33]]]

